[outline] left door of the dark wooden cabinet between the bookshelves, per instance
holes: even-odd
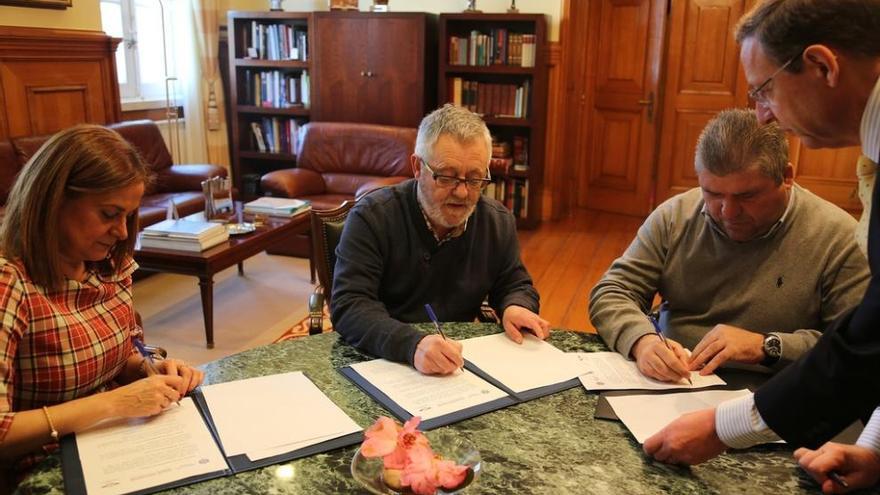
[[[314,17],[313,120],[369,122],[368,19],[336,13]]]

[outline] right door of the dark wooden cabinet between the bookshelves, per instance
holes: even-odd
[[[418,126],[425,111],[424,18],[373,18],[368,32],[369,121]]]

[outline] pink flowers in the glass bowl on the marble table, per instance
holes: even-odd
[[[441,487],[460,487],[467,478],[468,467],[435,455],[428,438],[416,430],[420,421],[415,416],[401,427],[393,419],[381,416],[364,432],[361,455],[381,457],[385,484],[397,491],[409,489],[419,495],[431,495]]]

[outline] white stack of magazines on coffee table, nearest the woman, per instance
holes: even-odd
[[[198,220],[164,220],[141,232],[141,247],[199,252],[228,239],[229,232],[222,224]]]

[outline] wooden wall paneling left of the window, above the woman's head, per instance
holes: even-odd
[[[119,41],[100,32],[0,26],[0,138],[118,122]]]

